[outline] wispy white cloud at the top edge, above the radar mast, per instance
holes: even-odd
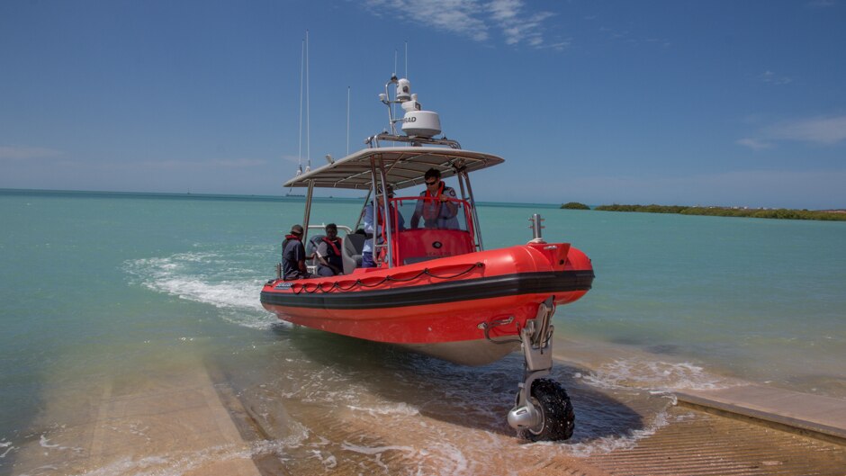
[[[563,41],[546,45],[543,22],[555,13],[527,12],[523,0],[367,0],[365,6],[379,15],[392,15],[476,41],[490,40],[491,31],[500,31],[508,45],[525,43],[554,49],[569,45]]]

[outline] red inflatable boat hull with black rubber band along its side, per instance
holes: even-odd
[[[517,348],[519,328],[541,302],[576,301],[592,282],[581,251],[531,244],[348,276],[275,280],[261,301],[294,324],[488,364]]]

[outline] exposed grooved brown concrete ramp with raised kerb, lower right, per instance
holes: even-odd
[[[675,396],[669,423],[634,447],[521,476],[846,475],[846,400],[759,385]]]

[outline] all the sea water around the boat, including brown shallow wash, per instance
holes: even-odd
[[[319,202],[312,223],[359,210]],[[666,423],[667,391],[734,378],[846,398],[846,223],[486,206],[486,247],[527,241],[533,212],[597,273],[555,316],[578,422],[567,445],[524,445],[505,423],[519,355],[460,367],[263,310],[300,202],[0,194],[0,474],[82,472],[60,463],[79,453],[66,440],[81,409],[104,385],[173,373],[210,373],[266,431],[249,452],[294,473],[516,472],[490,455],[631,445]],[[153,453],[163,463],[99,469],[181,474],[209,457]]]

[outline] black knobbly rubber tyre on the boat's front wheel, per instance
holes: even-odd
[[[527,428],[520,436],[529,441],[563,441],[570,439],[575,429],[576,416],[567,391],[560,383],[538,379],[532,383],[532,405],[543,415],[543,422]]]

